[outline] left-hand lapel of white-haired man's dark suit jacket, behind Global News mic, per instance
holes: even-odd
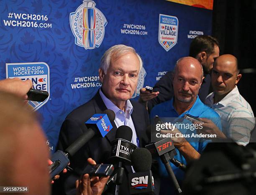
[[[105,106],[103,100],[101,99],[100,92],[98,91],[97,94],[93,98],[94,106],[95,106],[95,113],[102,113],[104,110],[107,109]],[[111,122],[113,129],[108,132],[108,134],[105,136],[109,142],[112,142],[115,139],[115,133],[116,133],[116,125],[115,122]]]

